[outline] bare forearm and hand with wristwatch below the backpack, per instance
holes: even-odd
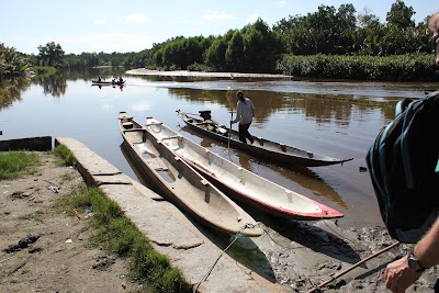
[[[439,218],[436,219],[428,233],[416,244],[414,257],[420,267],[427,269],[439,264]],[[395,260],[387,264],[384,272],[385,286],[392,292],[405,292],[421,272],[416,272],[408,266],[408,256]]]

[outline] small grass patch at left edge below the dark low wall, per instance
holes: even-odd
[[[16,179],[25,174],[33,174],[40,165],[40,157],[34,153],[0,153],[0,180]]]

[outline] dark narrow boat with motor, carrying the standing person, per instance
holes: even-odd
[[[319,167],[342,164],[353,159],[333,158],[256,136],[254,136],[255,142],[252,144],[244,144],[239,140],[239,133],[237,131],[230,129],[210,119],[210,111],[200,111],[202,115],[207,114],[207,119],[201,116],[196,117],[193,114],[184,113],[180,110],[178,110],[177,113],[191,129],[224,144],[229,144],[230,147],[239,148],[251,155],[282,165]]]

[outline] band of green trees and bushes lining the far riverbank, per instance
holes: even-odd
[[[132,53],[65,54],[60,44],[40,45],[26,55],[0,43],[0,76],[40,67],[130,66],[156,70],[283,74],[361,80],[438,80],[428,19],[396,0],[385,22],[352,4],[319,5],[307,15],[289,15],[270,27],[258,19],[224,35],[176,36]],[[37,72],[36,72],[37,74]]]

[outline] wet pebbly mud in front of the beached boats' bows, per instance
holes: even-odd
[[[378,226],[340,229],[329,221],[314,225],[297,222],[278,233],[270,236],[273,249],[264,253],[278,282],[291,292],[309,292],[337,275],[320,291],[390,292],[383,280],[386,264],[413,248],[413,245],[399,244],[373,257],[397,243],[385,228]],[[283,241],[283,237],[291,241]],[[369,257],[370,260],[357,267]],[[439,271],[431,268],[406,292],[434,292],[438,278]]]

